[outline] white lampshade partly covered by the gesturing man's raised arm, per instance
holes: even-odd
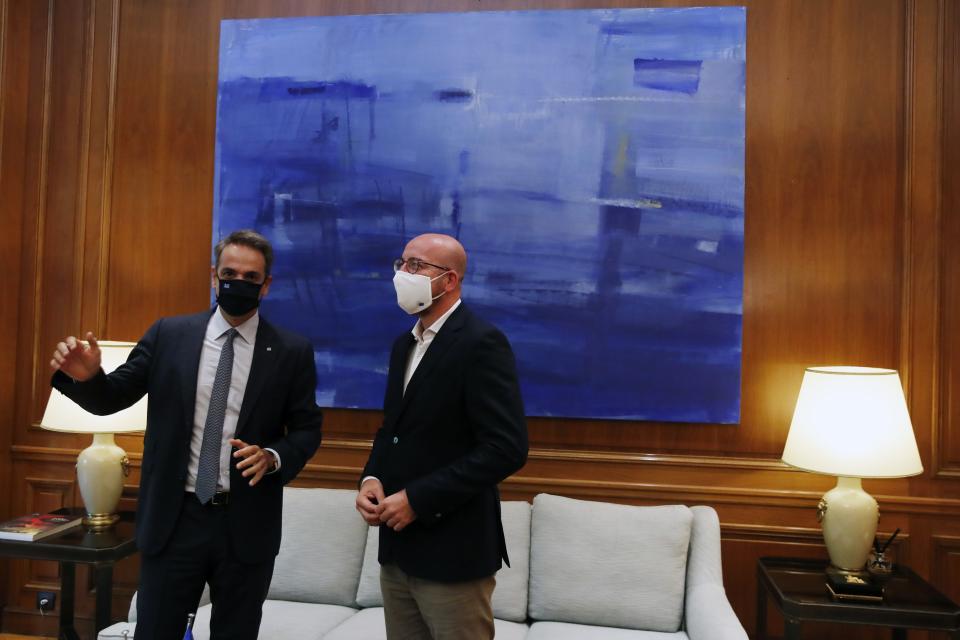
[[[126,362],[133,350],[133,342],[102,340],[100,345],[101,366],[110,373]],[[56,389],[50,390],[47,409],[43,412],[40,426],[50,431],[74,433],[130,433],[147,428],[147,397],[135,405],[108,416],[98,416],[80,408],[73,400]]]

